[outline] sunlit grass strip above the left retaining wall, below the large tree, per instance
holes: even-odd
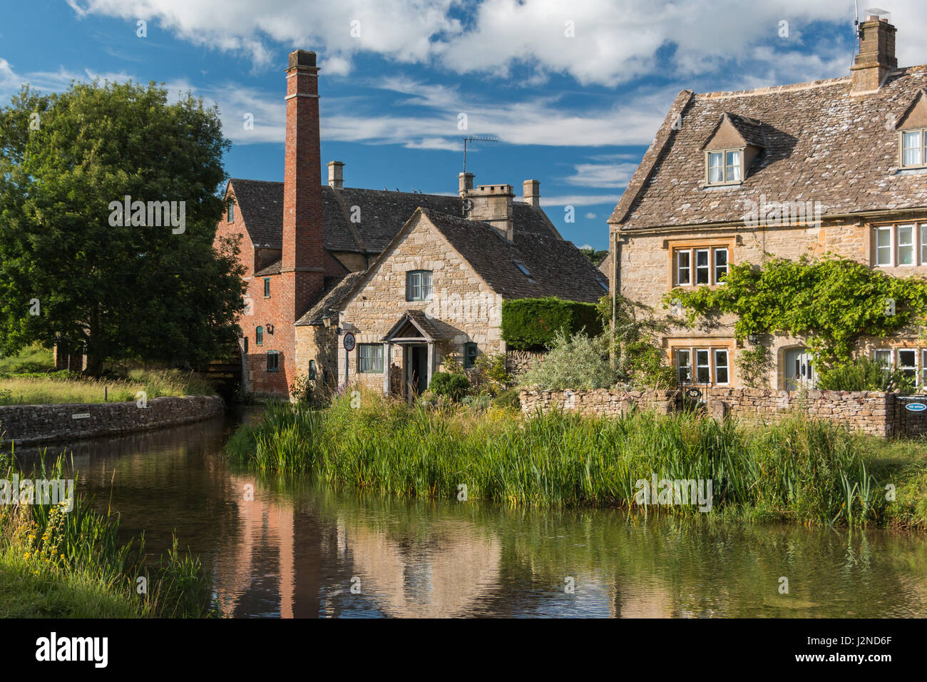
[[[136,400],[139,391],[148,400],[162,395],[211,395],[215,390],[191,372],[133,369],[125,377],[84,377],[61,370],[50,373],[0,374],[0,405],[59,403],[119,403]]]

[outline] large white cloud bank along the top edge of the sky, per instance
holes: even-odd
[[[400,63],[437,63],[456,73],[503,78],[518,67],[528,71],[527,85],[565,73],[580,84],[614,86],[657,69],[674,80],[688,80],[705,71],[736,74],[737,64],[756,59],[765,67],[760,71],[794,82],[845,74],[854,41],[852,5],[846,0],[483,0],[476,6],[457,0],[68,3],[79,17],[147,19],[149,36],[154,22],[193,44],[248,55],[261,67],[270,66],[277,45],[311,46],[337,75],[348,73],[353,56],[374,53]],[[452,16],[460,6],[470,18],[465,26]],[[916,39],[927,32],[922,1],[894,0],[892,9],[893,22],[902,29],[899,63],[923,62]],[[789,22],[786,38],[779,35],[782,20]],[[359,34],[352,34],[354,21]],[[573,22],[575,37],[565,35],[567,21]],[[816,21],[845,26],[843,43],[808,45],[806,28]],[[766,54],[756,49],[764,45]],[[803,54],[790,56],[796,48]],[[808,51],[819,57],[806,58]],[[833,71],[835,66],[839,69]]]

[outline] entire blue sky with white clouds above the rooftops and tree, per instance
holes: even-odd
[[[899,66],[927,62],[922,2],[883,6]],[[463,138],[493,135],[468,145],[476,184],[540,180],[561,234],[606,249],[679,90],[848,75],[855,16],[852,0],[0,0],[0,106],[26,83],[163,83],[219,107],[230,177],[279,181],[286,55],[311,49],[322,162],[346,186],[454,194]]]

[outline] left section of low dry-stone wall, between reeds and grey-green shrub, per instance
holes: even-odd
[[[525,415],[540,410],[544,414],[563,411],[595,417],[621,417],[634,405],[666,415],[674,411],[679,402],[679,392],[675,390],[522,391],[520,397],[522,413]]]

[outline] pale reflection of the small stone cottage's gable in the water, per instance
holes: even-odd
[[[502,547],[484,533],[464,521],[434,521],[425,537],[411,539],[353,522],[344,543],[364,594],[386,615],[447,618],[472,612],[499,586]]]

